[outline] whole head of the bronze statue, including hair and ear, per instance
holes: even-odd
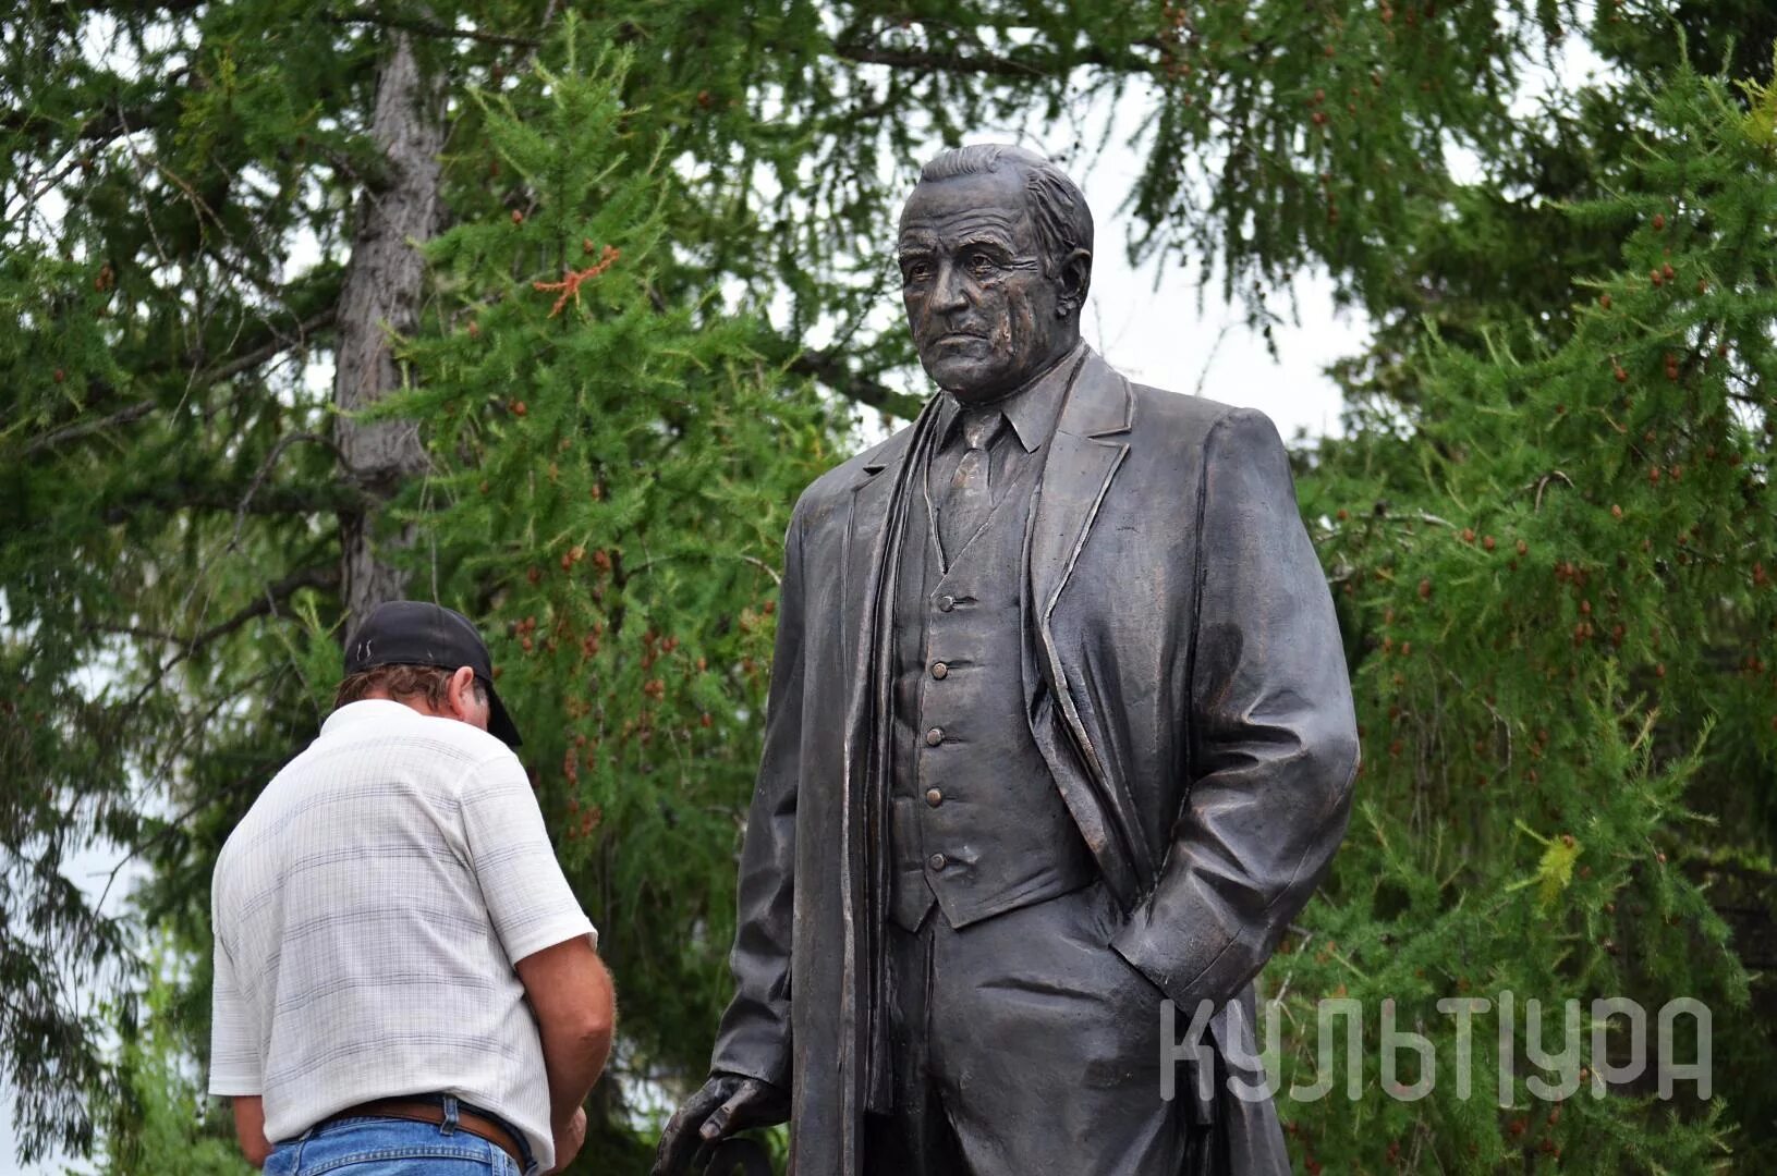
[[[1040,155],[956,147],[920,171],[901,210],[899,261],[920,364],[958,400],[984,403],[1079,343],[1093,215]]]

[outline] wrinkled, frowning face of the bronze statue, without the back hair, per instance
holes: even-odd
[[[1024,169],[920,183],[901,211],[901,298],[919,361],[965,403],[1047,371],[1079,341],[1072,266],[1043,274]]]

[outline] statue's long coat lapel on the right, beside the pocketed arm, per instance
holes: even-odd
[[[1024,684],[1036,743],[1068,812],[1125,908],[1153,876],[1153,862],[1128,789],[1105,771],[1091,732],[1080,721],[1056,645],[1054,613],[1098,508],[1128,457],[1134,403],[1128,380],[1088,352],[1056,423],[1031,512],[1025,624],[1034,636],[1036,664],[1025,666]],[[1047,698],[1038,695],[1038,686],[1048,687]],[[1057,743],[1057,727],[1066,732],[1072,748]]]

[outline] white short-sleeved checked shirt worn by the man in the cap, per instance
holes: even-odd
[[[259,1094],[267,1139],[439,1093],[554,1165],[514,965],[597,933],[506,744],[389,700],[334,711],[222,846],[211,917],[210,1093]]]

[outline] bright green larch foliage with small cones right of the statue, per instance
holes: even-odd
[[[1768,789],[1745,782],[1777,769],[1777,156],[1720,82],[1677,69],[1646,103],[1622,187],[1564,210],[1621,240],[1617,268],[1566,277],[1573,322],[1546,332],[1502,306],[1482,346],[1430,334],[1404,361],[1411,409],[1352,401],[1304,480],[1367,762],[1313,920],[1336,950],[1306,943],[1288,1000],[1311,1023],[1317,995],[1391,997],[1454,1061],[1443,997],[1692,997],[1715,1014],[1715,1089],[1750,1126],[1777,1096],[1770,1025],[1708,888],[1715,847],[1773,831]],[[1496,1110],[1496,1020],[1477,1023],[1477,1101],[1443,1073],[1374,1119],[1292,1105],[1310,1151],[1338,1171],[1770,1162],[1683,1084],[1672,1105],[1644,1080],[1555,1114],[1521,1064]]]

